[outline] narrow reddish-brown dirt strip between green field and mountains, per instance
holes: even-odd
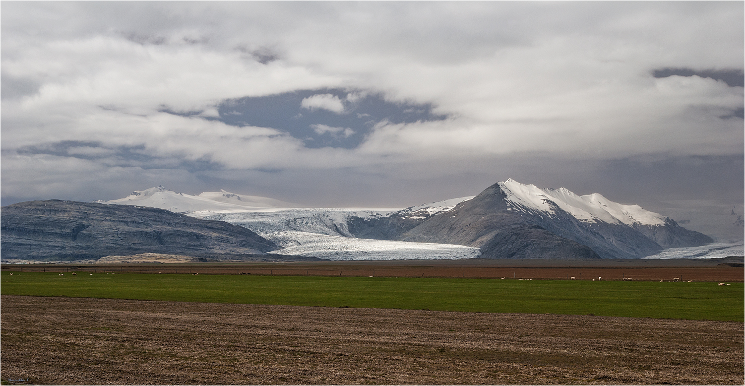
[[[739,265],[739,266],[733,266]],[[742,258],[668,260],[388,260],[352,262],[250,262],[197,264],[3,265],[4,272],[133,272],[293,276],[471,277],[515,279],[665,280],[742,282]]]

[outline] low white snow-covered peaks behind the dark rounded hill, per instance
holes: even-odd
[[[170,210],[177,213],[249,212],[255,210],[294,208],[297,204],[285,203],[268,197],[247,196],[221,190],[220,192],[203,192],[199,195],[184,194],[165,189],[163,186],[138,190],[118,200],[97,203],[149,206]]]

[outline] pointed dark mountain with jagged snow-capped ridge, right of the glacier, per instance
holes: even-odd
[[[637,205],[512,179],[429,218],[396,212],[387,218],[352,219],[350,230],[358,237],[479,247],[482,257],[492,259],[629,259],[712,241]]]

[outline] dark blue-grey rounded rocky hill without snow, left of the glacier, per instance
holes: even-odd
[[[143,206],[28,201],[3,206],[3,259],[77,260],[137,253],[252,255],[276,245],[244,227]]]

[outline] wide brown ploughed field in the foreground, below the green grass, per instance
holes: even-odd
[[[26,384],[745,383],[743,323],[7,295],[0,311],[1,377]]]

